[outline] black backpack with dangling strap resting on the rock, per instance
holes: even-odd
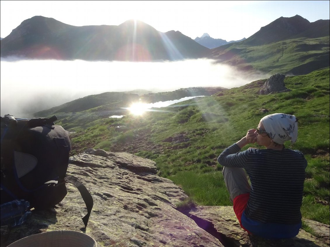
[[[87,226],[93,198],[82,183],[67,176],[71,144],[68,133],[51,118],[1,118],[0,204],[25,200],[30,208],[55,206],[67,194],[66,182],[80,191],[87,207]]]

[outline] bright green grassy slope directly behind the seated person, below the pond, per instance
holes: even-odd
[[[143,116],[88,119],[88,114],[102,111],[94,108],[84,112],[86,128],[67,118],[57,124],[76,131],[71,136],[72,154],[89,147],[134,153],[156,161],[159,175],[181,185],[197,204],[231,205],[217,156],[265,115],[293,114],[300,122],[298,140],[286,147],[302,151],[308,160],[302,214],[329,224],[329,68],[286,77],[290,92],[258,95],[265,80]],[[125,125],[125,131],[111,124]],[[244,149],[251,146],[263,148],[253,144]]]

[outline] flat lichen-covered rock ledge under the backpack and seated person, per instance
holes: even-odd
[[[1,227],[1,247],[23,237],[53,230],[74,230],[93,237],[98,247],[235,247],[329,246],[329,225],[306,220],[304,230],[285,240],[248,235],[231,206],[196,206],[177,210],[188,196],[171,180],[157,176],[156,163],[124,152],[88,149],[70,157],[67,174],[91,193],[94,206],[86,228],[87,211],[79,191],[67,183],[68,194],[55,208],[32,210],[21,226]]]

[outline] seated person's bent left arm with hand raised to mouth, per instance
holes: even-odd
[[[246,152],[240,152],[240,150],[245,145],[256,142],[256,134],[254,132],[255,129],[248,130],[245,137],[226,148],[217,159],[219,164],[230,167],[244,167],[248,157]]]

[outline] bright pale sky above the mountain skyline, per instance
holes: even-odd
[[[0,37],[26,19],[51,17],[73,26],[119,25],[139,19],[160,32],[195,39],[208,33],[226,41],[248,38],[277,18],[296,14],[310,22],[330,19],[326,1],[0,1]]]

